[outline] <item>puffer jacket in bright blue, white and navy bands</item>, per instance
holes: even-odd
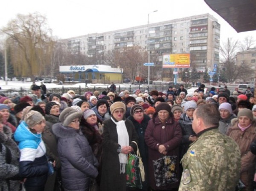
[[[46,148],[41,134],[33,134],[22,121],[14,134],[20,149],[20,176],[27,178],[25,187],[43,187],[48,174]]]

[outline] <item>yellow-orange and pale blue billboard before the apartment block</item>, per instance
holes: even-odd
[[[163,55],[163,68],[190,68],[190,54]]]

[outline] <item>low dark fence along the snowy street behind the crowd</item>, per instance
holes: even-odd
[[[185,84],[184,85],[185,88],[188,88],[189,85]],[[172,85],[172,87],[175,87],[175,88],[179,88],[179,86],[176,86],[176,85]],[[157,91],[167,91],[169,88],[169,85],[149,85],[149,86],[146,86],[146,85],[138,85],[138,86],[135,86],[135,85],[116,85],[116,92],[119,93],[121,91],[124,91],[124,90],[128,90],[130,92],[130,94],[133,94],[133,92],[137,89],[140,89],[142,92],[144,92],[145,90],[148,90],[148,92],[152,91],[152,90],[157,90]],[[64,94],[66,93],[67,91],[69,90],[73,90],[75,91],[76,94],[79,94],[79,95],[83,95],[84,92],[87,92],[87,91],[91,91],[91,92],[94,92],[94,91],[99,91],[100,93],[102,91],[107,91],[108,92],[108,86],[106,87],[96,87],[94,86],[93,88],[81,88],[81,86],[79,86],[78,88],[66,88],[64,86],[62,86],[62,88],[47,88],[47,93],[56,93],[56,94]],[[10,94],[12,92],[19,92],[20,96],[25,96],[27,94],[31,94],[31,90],[29,88],[22,88],[20,87],[19,90],[13,90],[13,89],[6,89],[4,90],[4,93],[8,96],[10,96]]]

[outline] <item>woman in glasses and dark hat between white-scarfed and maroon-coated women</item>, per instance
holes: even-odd
[[[148,146],[145,143],[144,136],[145,131],[148,126],[148,121],[151,118],[144,114],[143,107],[136,104],[131,108],[131,116],[128,117],[128,120],[134,124],[134,127],[139,136],[138,147],[140,150],[140,156],[142,157],[142,162],[145,170],[145,181],[143,182],[143,190],[148,190]]]

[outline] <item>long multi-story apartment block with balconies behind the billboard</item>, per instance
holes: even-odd
[[[201,14],[71,37],[62,40],[62,43],[66,43],[72,54],[86,54],[88,57],[138,45],[146,50],[149,48],[151,61],[159,65],[162,64],[163,54],[190,53],[191,65],[202,73],[206,68],[212,71],[213,65],[219,63],[219,39],[220,24],[217,19],[210,14]]]

